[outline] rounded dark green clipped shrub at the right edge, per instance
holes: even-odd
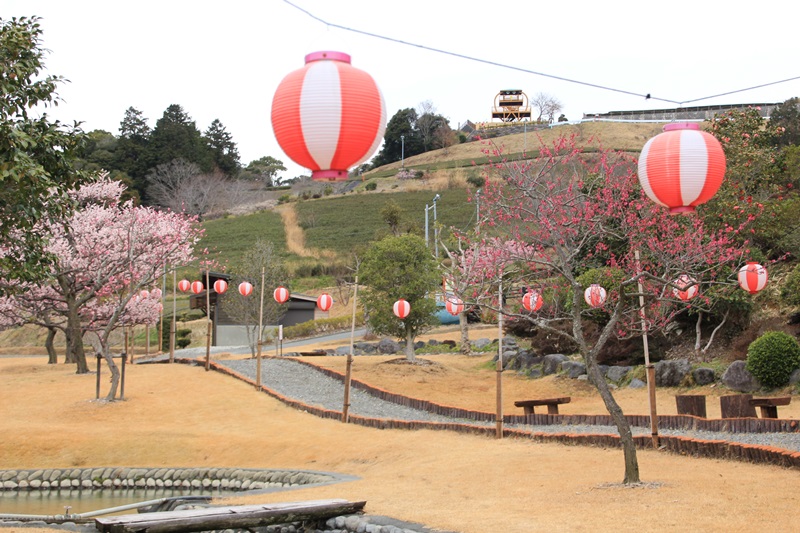
[[[768,331],[750,343],[745,368],[767,388],[783,387],[800,367],[800,343],[782,331]]]

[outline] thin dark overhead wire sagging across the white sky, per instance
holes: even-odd
[[[403,41],[401,39],[395,39],[394,37],[387,37],[385,35],[380,35],[380,34],[377,34],[377,33],[371,33],[371,32],[364,31],[364,30],[359,30],[359,29],[356,29],[356,28],[350,28],[349,26],[343,26],[341,24],[336,24],[334,22],[328,22],[326,20],[323,20],[323,19],[319,18],[318,16],[314,15],[313,13],[311,13],[310,11],[308,11],[306,9],[303,9],[302,7],[300,7],[300,6],[296,5],[296,4],[293,4],[289,0],[283,0],[283,1],[286,4],[289,4],[293,8],[297,9],[298,11],[302,11],[303,13],[305,13],[306,15],[311,17],[312,19],[314,19],[314,20],[316,20],[318,22],[321,22],[322,24],[325,24],[326,26],[330,26],[330,27],[333,27],[333,28],[338,28],[340,30],[349,31],[349,32],[352,32],[352,33],[358,33],[360,35],[365,35],[367,37],[373,37],[375,39],[382,39],[384,41],[389,41],[389,42],[393,42],[393,43],[397,43],[397,44],[402,44],[402,45],[405,45],[405,46],[413,46],[414,48],[420,48],[422,50],[428,50],[430,52],[436,52],[436,53],[439,53],[439,54],[445,54],[445,55],[449,55],[449,56],[452,56],[452,57],[458,57],[458,58],[461,58],[461,59],[466,59],[468,61],[475,61],[477,63],[483,63],[485,65],[492,65],[492,66],[495,66],[495,67],[505,68],[505,69],[509,69],[509,70],[515,70],[515,71],[518,71],[518,72],[524,72],[526,74],[533,74],[535,76],[542,76],[544,78],[550,78],[550,79],[554,79],[554,80],[564,81],[564,82],[567,82],[567,83],[574,83],[576,85],[583,85],[585,87],[592,87],[592,88],[601,89],[601,90],[604,90],[604,91],[622,93],[622,94],[627,94],[627,95],[630,95],[630,96],[638,96],[638,97],[644,98],[646,100],[658,100],[659,102],[667,102],[667,103],[670,103],[670,104],[675,104],[677,106],[682,106],[684,104],[689,104],[689,103],[693,103],[693,102],[700,102],[702,100],[710,100],[712,98],[718,98],[720,96],[728,96],[730,94],[736,94],[736,93],[741,93],[741,92],[746,92],[746,91],[752,91],[754,89],[760,89],[762,87],[769,87],[771,85],[778,85],[778,84],[781,84],[781,83],[786,83],[786,82],[789,82],[789,81],[795,81],[795,80],[800,79],[800,76],[795,76],[795,77],[787,78],[787,79],[784,79],[784,80],[778,80],[778,81],[762,83],[760,85],[754,85],[752,87],[745,87],[743,89],[735,89],[735,90],[732,90],[732,91],[728,91],[728,92],[724,92],[724,93],[720,93],[720,94],[715,94],[715,95],[711,95],[711,96],[703,96],[702,98],[694,98],[692,100],[683,100],[683,101],[671,100],[669,98],[662,98],[662,97],[658,97],[658,96],[653,96],[651,93],[642,94],[642,93],[637,93],[637,92],[633,92],[633,91],[628,91],[628,90],[625,90],[625,89],[618,89],[618,88],[615,88],[615,87],[609,87],[607,85],[599,85],[599,84],[590,83],[590,82],[587,82],[587,81],[576,80],[576,79],[572,79],[572,78],[566,78],[564,76],[557,76],[555,74],[547,74],[545,72],[537,72],[535,70],[531,70],[531,69],[527,69],[527,68],[523,68],[523,67],[517,67],[517,66],[514,66],[514,65],[508,65],[508,64],[505,64],[505,63],[499,63],[497,61],[491,61],[491,60],[488,60],[488,59],[481,59],[481,58],[478,58],[478,57],[473,57],[473,56],[468,56],[468,55],[465,55],[465,54],[460,54],[458,52],[451,52],[449,50],[442,50],[442,49],[439,49],[439,48],[432,48],[430,46],[425,46],[423,44],[410,43],[410,42],[407,42],[407,41]]]

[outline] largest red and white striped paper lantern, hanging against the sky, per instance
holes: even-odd
[[[314,52],[272,99],[272,129],[286,155],[314,180],[344,180],[369,159],[386,130],[386,104],[372,76],[342,52]]]

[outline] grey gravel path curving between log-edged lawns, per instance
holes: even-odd
[[[230,349],[227,350],[230,352]],[[177,357],[204,357],[196,351],[181,351],[176,353]],[[218,364],[226,366],[231,370],[249,378],[256,380],[256,361],[253,359],[224,360]],[[274,390],[278,394],[293,398],[305,404],[322,407],[334,411],[342,410],[344,403],[344,383],[328,377],[322,372],[298,363],[291,359],[262,359],[261,361],[261,383],[265,387]],[[495,422],[480,422],[470,419],[458,419],[442,416],[420,409],[399,405],[390,401],[382,400],[371,394],[358,390],[350,389],[350,413],[357,416],[370,418],[385,418],[392,420],[414,420],[428,422],[457,422],[473,425],[483,425],[494,427]],[[614,426],[596,425],[513,425],[506,424],[506,427],[526,429],[535,433],[562,433],[568,430],[570,433],[596,433],[596,434],[616,434]],[[633,427],[634,435],[649,435],[649,428]],[[670,430],[660,429],[661,435],[683,435],[692,438],[705,440],[724,440],[729,442],[741,442],[747,444],[758,444],[775,446],[785,450],[800,452],[800,433],[729,433],[714,431],[690,431],[690,430]]]

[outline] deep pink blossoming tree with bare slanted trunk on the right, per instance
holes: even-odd
[[[620,435],[625,483],[640,479],[630,424],[598,365],[598,353],[612,336],[630,337],[666,326],[685,308],[673,296],[681,274],[708,284],[730,283],[724,274],[738,265],[745,245],[737,227],[711,230],[702,214],[670,216],[642,194],[632,158],[600,149],[586,154],[571,138],[542,146],[524,165],[499,163],[487,180],[483,205],[485,235],[465,254],[465,277],[476,300],[504,315],[569,339]],[[702,208],[701,208],[702,209]],[[492,267],[493,265],[493,267]],[[469,268],[467,268],[469,267]],[[583,301],[582,274],[597,269],[608,298],[600,309]],[[536,313],[513,312],[487,301],[487,280],[504,287],[530,287],[550,295]],[[466,296],[466,294],[465,294]],[[640,304],[640,296],[644,304]],[[587,324],[599,324],[589,335]]]

